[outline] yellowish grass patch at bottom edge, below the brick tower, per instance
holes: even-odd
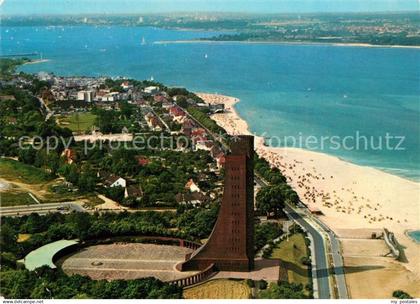
[[[249,299],[251,289],[245,281],[219,279],[184,290],[185,299]]]

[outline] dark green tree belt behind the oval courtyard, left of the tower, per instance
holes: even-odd
[[[30,251],[61,239],[95,240],[119,236],[172,236],[190,240],[208,237],[217,218],[218,204],[174,212],[52,213],[2,217],[0,249],[21,259]],[[19,234],[30,234],[17,242]]]

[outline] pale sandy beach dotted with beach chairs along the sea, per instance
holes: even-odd
[[[210,104],[225,104],[225,113],[214,114],[212,118],[229,134],[251,134],[246,121],[235,111],[234,105],[239,102],[237,98],[206,93],[197,95]],[[257,153],[283,172],[304,203],[322,211],[324,215],[320,218],[338,236],[358,238],[364,230],[384,227],[394,232],[398,242],[405,248],[406,261],[397,262],[390,257],[381,257],[385,259],[381,263],[397,263],[399,271],[404,271],[405,279],[391,286],[414,290],[417,294],[413,295],[420,296],[420,291],[412,288],[420,284],[420,245],[405,235],[407,230],[420,229],[420,183],[327,154],[297,148],[266,147],[263,142],[262,137],[256,137]],[[360,250],[363,251],[363,248]],[[369,259],[371,257],[363,259],[362,254],[359,262],[366,266],[370,264]],[[353,265],[354,261],[351,262]],[[375,282],[380,289],[384,278],[377,280],[375,271],[366,270],[362,275],[371,274],[369,282],[372,289],[375,288]],[[352,285],[351,281],[356,275],[360,276],[360,273],[347,276],[349,285]],[[392,271],[388,275],[392,282]],[[357,280],[360,277],[356,276],[354,281]],[[388,292],[386,290],[386,294],[381,294],[376,290],[374,296],[367,294],[365,297],[391,297]],[[357,296],[363,294],[357,293]]]

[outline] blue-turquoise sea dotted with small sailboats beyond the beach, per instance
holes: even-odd
[[[298,147],[303,141],[303,148],[420,180],[419,49],[154,43],[215,34],[2,27],[1,53],[37,52],[50,60],[25,65],[25,72],[153,77],[170,86],[236,96],[251,131],[272,145],[294,145],[292,136]],[[323,146],[322,137],[329,138]]]

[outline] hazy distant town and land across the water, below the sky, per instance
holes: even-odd
[[[226,31],[201,40],[283,42],[416,47],[416,12],[331,14],[194,14],[102,16],[5,16],[4,25],[152,26],[172,29]]]

